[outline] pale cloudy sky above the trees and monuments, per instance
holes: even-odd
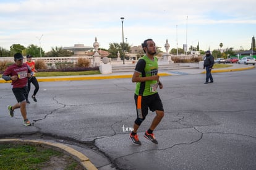
[[[52,47],[109,43],[141,45],[152,38],[164,49],[183,44],[210,50],[250,49],[256,35],[256,1],[252,0],[0,0],[0,47],[12,44]],[[43,35],[43,36],[41,36]],[[126,40],[127,38],[127,40]]]

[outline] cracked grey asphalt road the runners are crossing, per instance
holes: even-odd
[[[136,116],[130,79],[40,82],[38,102],[27,104],[31,127],[22,125],[19,110],[8,115],[15,99],[1,83],[0,137],[65,143],[97,169],[256,169],[255,77],[255,68],[214,73],[208,85],[205,74],[161,77],[159,143],[143,137],[155,116],[149,112],[141,146],[129,140]]]

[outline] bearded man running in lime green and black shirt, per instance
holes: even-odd
[[[134,130],[130,133],[130,140],[134,145],[141,145],[137,130],[145,120],[148,108],[150,111],[155,111],[156,116],[150,128],[145,132],[144,137],[155,144],[158,144],[158,141],[153,134],[153,130],[155,130],[164,116],[163,104],[157,92],[158,86],[161,89],[163,85],[159,80],[159,75],[157,75],[158,59],[154,56],[156,54],[155,42],[152,39],[147,39],[143,42],[142,48],[145,55],[137,62],[132,76],[132,82],[136,82],[134,99],[137,109]]]

